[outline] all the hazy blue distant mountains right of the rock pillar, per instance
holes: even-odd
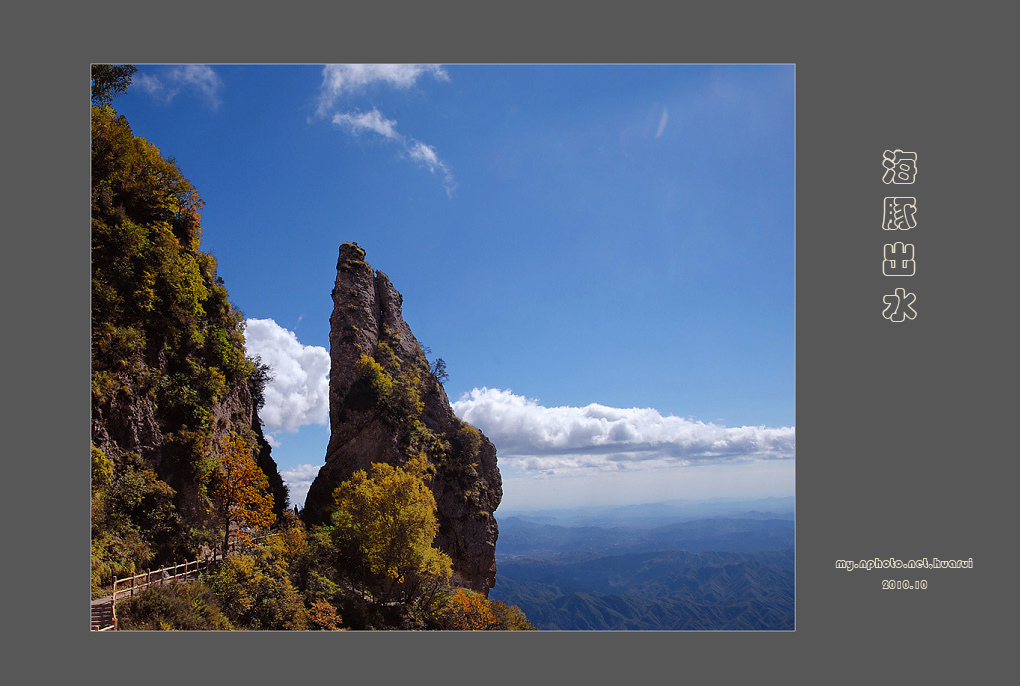
[[[490,597],[546,630],[793,630],[789,500],[768,504],[789,512],[684,521],[704,504],[503,517]],[[655,514],[659,525],[648,526]],[[631,525],[547,523],[585,519]]]

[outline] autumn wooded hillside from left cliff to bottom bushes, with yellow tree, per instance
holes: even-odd
[[[118,602],[118,629],[533,629],[451,585],[418,456],[371,465],[306,526],[262,436],[271,370],[200,250],[202,200],[112,107],[134,73],[92,74],[92,590],[232,550],[187,584]],[[324,446],[323,446],[324,447]]]

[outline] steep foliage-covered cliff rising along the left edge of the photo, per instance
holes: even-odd
[[[202,200],[112,108],[92,108],[93,585],[193,559],[215,535],[207,483],[232,434],[277,516],[287,489],[258,419],[264,370],[215,259]]]

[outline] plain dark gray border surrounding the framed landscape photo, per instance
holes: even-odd
[[[5,505],[6,616],[20,627],[13,673],[147,683],[226,675],[394,683],[429,673],[498,683],[540,675],[983,683],[1001,671],[1015,646],[1002,629],[1016,609],[1012,22],[975,5],[853,14],[776,3],[442,7],[90,3],[59,15],[9,13],[8,50],[21,57],[7,60],[5,99],[13,114],[5,167],[14,176],[4,191],[13,210],[4,251],[15,377],[7,394],[16,406]],[[93,61],[796,63],[797,631],[90,634],[83,445]],[[882,151],[895,148],[918,153],[915,184],[881,182]],[[887,195],[918,198],[917,228],[881,230]],[[916,276],[882,276],[889,235],[916,246]],[[898,285],[917,294],[914,321],[881,317],[882,296]],[[834,569],[837,559],[875,557],[973,558],[974,568]],[[928,589],[883,591],[883,578],[926,578]]]

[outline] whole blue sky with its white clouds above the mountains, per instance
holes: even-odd
[[[502,509],[794,493],[793,65],[139,65],[303,502],[353,241],[498,448]]]

